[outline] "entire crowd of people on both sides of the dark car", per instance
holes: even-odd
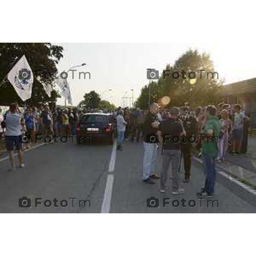
[[[17,104],[11,104],[6,113],[0,113],[1,136],[5,134],[6,149],[10,156],[9,171],[15,169],[13,157],[15,146],[18,151],[19,167],[23,168],[21,151],[35,143],[35,134],[50,137],[53,134],[61,136],[75,134],[79,117],[87,112],[95,112],[95,110],[56,108],[55,111],[50,111],[49,106],[44,105],[39,108],[29,106],[22,113]],[[205,185],[198,195],[211,197],[214,193],[215,161],[224,161],[228,152],[232,154],[246,152],[250,119],[241,110],[240,105],[221,102],[217,108],[209,105],[192,110],[188,102],[179,108],[170,109],[160,108],[157,103],[153,103],[149,111],[119,107],[112,114],[116,117],[117,150],[123,150],[124,140],[131,143],[135,140],[136,142],[143,140],[143,182],[154,184],[152,179],[160,178],[160,192],[166,189],[170,164],[172,193],[184,192],[180,186],[178,172],[183,159],[183,182],[190,181],[191,156],[194,148],[195,152],[202,156],[206,167]],[[203,134],[206,137],[203,138]],[[26,143],[21,141],[23,135],[29,140]],[[161,149],[163,158],[160,177],[154,173],[158,148]]]

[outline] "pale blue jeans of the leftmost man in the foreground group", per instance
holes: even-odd
[[[150,177],[151,172],[154,171],[157,161],[157,144],[146,143],[144,145],[144,158],[143,158],[143,180]]]

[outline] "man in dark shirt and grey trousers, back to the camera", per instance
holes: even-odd
[[[160,177],[160,192],[166,189],[169,165],[172,163],[172,194],[182,194],[184,189],[179,186],[178,170],[180,165],[180,142],[176,141],[185,134],[182,124],[178,121],[179,109],[170,110],[170,118],[159,125],[159,140],[163,145],[163,166]]]

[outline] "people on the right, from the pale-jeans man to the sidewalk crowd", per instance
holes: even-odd
[[[246,152],[248,121],[249,118],[238,104],[231,106],[222,102],[218,108],[209,105],[192,111],[187,102],[180,108],[163,110],[153,103],[143,122],[143,182],[154,184],[152,179],[160,178],[160,192],[165,192],[168,169],[172,164],[172,194],[183,193],[178,179],[181,159],[184,162],[183,182],[188,183],[194,147],[198,155],[202,156],[206,169],[205,184],[198,196],[212,197],[216,177],[215,161],[225,160],[228,151],[232,154]],[[153,173],[158,142],[163,158],[160,177]]]

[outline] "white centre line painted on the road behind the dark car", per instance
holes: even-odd
[[[111,173],[114,172],[115,163],[116,163],[116,140],[114,141],[114,144],[113,144],[113,148],[112,148],[112,152],[111,152],[111,159],[110,159],[110,163],[108,166],[109,174],[107,177],[104,198],[102,201],[101,213],[109,213],[109,211],[110,211],[112,189],[113,189],[113,183],[114,183],[114,175]]]

